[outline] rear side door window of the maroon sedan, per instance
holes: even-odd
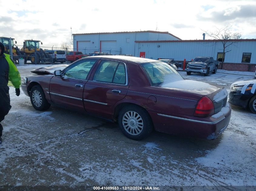
[[[125,64],[122,62],[102,60],[95,72],[93,81],[126,84]]]

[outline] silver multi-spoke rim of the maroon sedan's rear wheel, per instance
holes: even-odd
[[[123,127],[131,135],[138,135],[143,129],[141,116],[135,111],[128,111],[123,116]]]

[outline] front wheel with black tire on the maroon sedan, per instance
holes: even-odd
[[[40,85],[35,85],[31,88],[30,102],[32,106],[38,111],[47,110],[51,106],[51,104],[48,103],[48,101],[45,99],[45,93]]]

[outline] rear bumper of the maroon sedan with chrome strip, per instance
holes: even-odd
[[[228,126],[231,117],[231,106],[229,103],[226,103],[225,113],[223,111],[209,117],[187,116],[190,118],[165,115],[153,111],[149,111],[149,113],[156,131],[214,139]]]

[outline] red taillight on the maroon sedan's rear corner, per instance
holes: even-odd
[[[202,97],[195,108],[194,116],[206,117],[214,114],[214,105],[209,97]]]

